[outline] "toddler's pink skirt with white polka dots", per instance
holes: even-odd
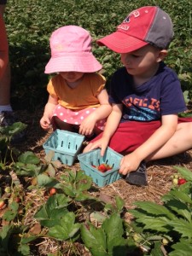
[[[58,117],[61,121],[71,124],[71,125],[80,125],[82,121],[92,112],[94,112],[96,108],[84,108],[79,111],[73,111],[68,108],[63,108],[61,105],[57,105],[53,116]],[[100,130],[104,130],[104,125],[106,123],[106,119],[102,119],[96,122],[96,127]]]

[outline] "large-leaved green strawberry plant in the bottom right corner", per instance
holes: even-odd
[[[162,197],[163,205],[154,202],[136,201],[133,227],[142,234],[138,244],[150,255],[171,256],[191,255],[192,253],[192,173],[177,167],[183,177],[183,184],[177,184]],[[159,251],[159,254],[157,253]]]

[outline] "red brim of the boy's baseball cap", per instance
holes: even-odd
[[[117,31],[97,40],[97,44],[100,46],[105,45],[117,53],[128,53],[136,49],[140,49],[148,43],[138,38],[133,38],[124,32]]]

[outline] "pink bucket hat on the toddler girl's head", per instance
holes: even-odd
[[[94,73],[102,69],[91,52],[90,33],[80,26],[58,28],[52,33],[49,43],[51,58],[44,73]]]

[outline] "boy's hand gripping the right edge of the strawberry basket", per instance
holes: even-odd
[[[126,175],[128,172],[136,171],[141,161],[134,153],[125,155],[120,161],[119,173]]]

